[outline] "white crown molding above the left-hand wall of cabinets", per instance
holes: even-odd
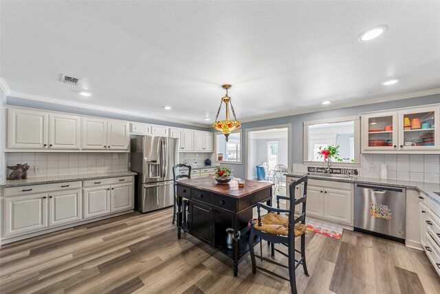
[[[39,101],[39,102],[45,102],[45,103],[78,107],[78,108],[83,108],[83,109],[92,109],[92,110],[96,110],[96,111],[100,111],[100,112],[111,112],[111,113],[122,114],[122,115],[126,115],[126,116],[149,118],[149,119],[154,119],[154,120],[166,121],[168,123],[180,123],[182,125],[192,125],[195,127],[208,127],[208,126],[203,125],[201,123],[190,123],[190,122],[187,122],[184,120],[176,120],[173,118],[163,118],[163,117],[159,117],[159,116],[151,116],[151,115],[147,115],[147,114],[141,114],[139,112],[131,112],[128,110],[115,109],[115,108],[111,108],[111,107],[102,107],[102,106],[98,106],[98,105],[89,105],[89,104],[85,104],[85,103],[64,101],[64,100],[59,100],[59,99],[55,99],[55,98],[47,98],[47,97],[37,96],[37,95],[32,95],[32,94],[10,92],[10,94],[8,94],[7,96],[11,96],[14,98],[22,98],[22,99],[27,99],[27,100],[32,100],[32,101]]]

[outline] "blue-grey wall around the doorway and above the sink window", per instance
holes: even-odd
[[[303,122],[309,120],[320,120],[327,118],[338,118],[344,116],[355,116],[362,112],[375,112],[386,109],[395,109],[401,107],[410,107],[418,105],[428,105],[440,103],[440,94],[403,99],[399,101],[390,101],[384,103],[375,103],[368,105],[360,105],[355,107],[347,107],[340,109],[332,109],[322,112],[313,112],[309,114],[298,114],[294,116],[284,116],[280,118],[270,118],[267,120],[256,120],[250,123],[242,123],[241,129],[243,129],[243,164],[242,165],[225,165],[234,169],[234,176],[238,178],[244,178],[245,176],[245,162],[247,158],[245,150],[245,129],[250,129],[254,127],[267,127],[271,125],[285,125],[288,123],[292,124],[292,162],[293,163],[303,163]],[[292,167],[288,167],[289,170]]]

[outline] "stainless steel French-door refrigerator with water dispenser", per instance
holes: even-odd
[[[135,207],[144,213],[174,204],[173,167],[179,161],[178,139],[131,138],[131,170],[137,172]]]

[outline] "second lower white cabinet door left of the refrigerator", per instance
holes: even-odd
[[[110,213],[110,187],[84,189],[84,218],[96,218]]]

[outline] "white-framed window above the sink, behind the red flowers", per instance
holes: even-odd
[[[321,149],[339,146],[338,163],[359,163],[360,118],[336,118],[304,123],[304,161],[324,162]],[[333,160],[336,162],[336,160]]]

